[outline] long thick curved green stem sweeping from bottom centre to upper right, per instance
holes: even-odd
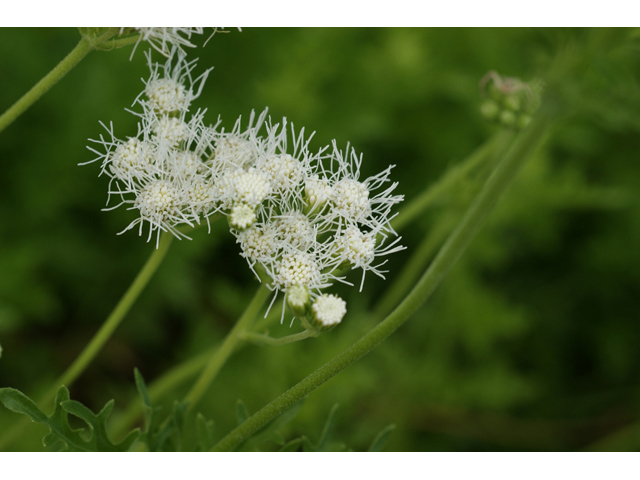
[[[504,159],[484,184],[458,227],[449,236],[418,284],[385,320],[347,350],[327,362],[232,430],[214,445],[212,450],[234,450],[267,422],[369,353],[399,328],[429,298],[449,269],[462,255],[499,196],[509,186],[523,162],[542,140],[550,120],[551,117],[541,109],[538,117],[522,132],[520,138],[507,152]]]

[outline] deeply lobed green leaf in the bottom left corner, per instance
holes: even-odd
[[[0,401],[9,410],[27,415],[34,422],[49,427],[50,433],[42,439],[44,446],[53,450],[72,452],[116,452],[127,451],[139,435],[135,429],[119,444],[113,444],[107,435],[106,421],[113,410],[113,400],[108,402],[98,415],[80,402],[69,400],[69,390],[61,386],[56,393],[53,413],[45,415],[33,400],[13,388],[0,389]],[[80,436],[82,430],[73,430],[69,425],[68,414],[83,420],[91,429],[89,440]]]

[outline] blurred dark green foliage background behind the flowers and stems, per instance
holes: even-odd
[[[211,123],[220,115],[230,128],[268,106],[316,131],[316,148],[351,142],[364,176],[395,164],[407,202],[495,132],[479,112],[489,70],[542,78],[565,114],[435,295],[313,392],[287,438],[317,438],[337,403],[335,448],[364,450],[389,424],[386,449],[397,451],[640,448],[637,30],[247,28],[202,47],[207,36],[188,53],[196,73],[215,67],[195,102]],[[0,29],[0,110],[78,40],[75,29]],[[99,121],[135,134],[124,109],[148,75],[144,50],[132,61],[130,47],[89,54],[0,133],[2,387],[32,398],[49,388],[151,252],[135,232],[116,235],[133,212],[101,211],[99,165],[77,166],[93,158]],[[408,248],[390,258],[386,281],[334,290],[349,308],[339,328],[238,351],[200,407],[217,437],[235,426],[238,399],[255,412],[371,329],[376,300],[473,191],[442,197],[400,232]],[[117,416],[139,401],[134,367],[150,383],[220,342],[257,288],[238,252],[224,222],[174,242],[71,397],[96,411],[114,398]],[[0,432],[18,419],[0,408]],[[11,449],[42,449],[44,432],[29,425]]]

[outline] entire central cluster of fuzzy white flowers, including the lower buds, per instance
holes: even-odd
[[[367,271],[385,273],[386,261],[377,257],[404,248],[389,224],[403,199],[393,195],[392,166],[361,180],[362,156],[349,145],[340,150],[334,141],[314,153],[313,135],[305,139],[304,129],[296,133],[286,119],[265,121],[266,110],[257,118],[252,112],[246,126],[239,118],[231,131],[218,131],[218,124],[204,124],[204,110],[187,116],[209,70],[193,79],[194,62],[175,49],[163,66],[150,57],[149,66],[134,102],[142,108],[133,112],[138,134],[120,140],[110,125],[109,140],[93,140],[106,152],[91,149],[98,154],[92,161],[100,160],[111,178],[109,200],[119,200],[111,208],[128,205],[139,213],[125,231],[138,227],[142,234],[148,224],[157,245],[160,232],[186,236],[179,227],[222,213],[274,300],[284,292],[294,314],[318,328],[339,323],[346,304],[322,291],[348,283],[346,273],[357,268],[362,289]]]

